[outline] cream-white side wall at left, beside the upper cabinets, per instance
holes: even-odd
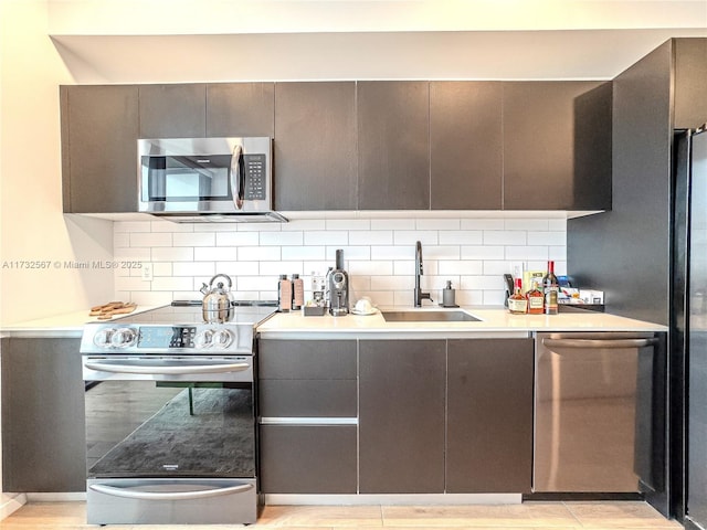
[[[112,273],[64,262],[109,258],[113,226],[62,214],[59,85],[73,78],[48,36],[46,2],[3,0],[0,10],[0,325],[7,325],[110,298]],[[28,268],[32,262],[48,268]]]

